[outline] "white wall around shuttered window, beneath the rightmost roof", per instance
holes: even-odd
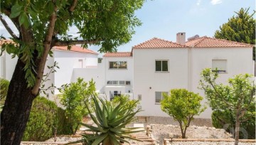
[[[198,82],[201,79],[201,71],[212,67],[212,59],[227,59],[227,73],[220,74],[217,80],[220,83],[228,84],[228,79],[237,74],[253,74],[251,48],[192,48],[189,76],[191,91],[204,96],[204,91],[198,89]],[[206,99],[203,102],[205,103]],[[208,107],[199,117],[210,118],[211,112]]]

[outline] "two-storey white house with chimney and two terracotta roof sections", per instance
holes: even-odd
[[[235,74],[253,74],[252,45],[196,37],[185,42],[185,33],[177,34],[177,42],[153,38],[132,49],[134,59],[134,98],[141,99],[140,115],[168,116],[161,111],[161,93],[172,88],[186,88],[200,93],[200,73],[216,67],[226,83]],[[204,100],[203,102],[206,102]],[[199,117],[210,118],[208,108]]]

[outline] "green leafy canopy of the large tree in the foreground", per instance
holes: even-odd
[[[28,86],[32,87],[36,80],[35,59],[42,56],[46,37],[53,39],[50,41],[51,46],[55,46],[54,42],[78,40],[78,37],[68,34],[69,28],[75,26],[81,40],[85,40],[81,43],[85,44],[84,47],[92,44],[100,45],[100,52],[116,51],[117,46],[131,40],[134,28],[142,25],[134,13],[142,7],[144,1],[84,0],[77,1],[77,4],[73,4],[71,0],[1,1],[1,15],[9,16],[18,32],[29,38],[14,37],[14,42],[18,45],[3,45],[2,50],[11,50],[8,52],[21,56],[26,64],[24,70]],[[55,25],[48,25],[54,12],[58,12],[55,13]],[[48,33],[50,27],[54,28],[52,33]]]

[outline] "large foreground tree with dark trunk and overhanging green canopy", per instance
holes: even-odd
[[[100,45],[100,52],[114,52],[131,40],[141,25],[134,11],[144,0],[1,1],[0,20],[16,43],[1,51],[18,57],[1,112],[1,144],[20,144],[34,98],[39,93],[48,54],[53,46]],[[5,18],[16,26],[15,35]],[[68,34],[78,28],[80,38]]]

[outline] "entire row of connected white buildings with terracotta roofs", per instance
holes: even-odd
[[[107,100],[112,100],[114,95],[129,95],[131,99],[141,100],[139,107],[144,111],[139,115],[167,117],[169,115],[160,108],[162,92],[186,88],[204,96],[204,92],[198,89],[198,82],[205,68],[218,68],[221,83],[227,83],[228,78],[235,74],[253,74],[252,47],[198,35],[186,42],[186,33],[177,33],[176,42],[154,37],[132,47],[132,52],[106,53],[99,62],[97,53],[90,50],[72,47],[68,51],[67,47],[54,47],[53,57],[48,57],[47,65],[56,61],[60,69],[51,74],[47,86],[54,83],[60,87],[78,77],[85,81],[93,79],[97,92]],[[6,66],[1,64],[1,68]],[[6,67],[4,70],[11,72],[12,69]],[[53,93],[59,92],[55,90]],[[208,108],[199,117],[210,118],[210,114]]]

